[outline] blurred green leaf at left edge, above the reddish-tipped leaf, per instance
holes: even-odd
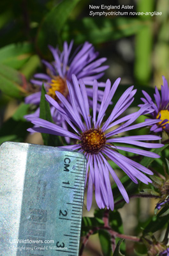
[[[33,47],[29,43],[10,44],[0,49],[0,63],[19,69],[32,54]]]

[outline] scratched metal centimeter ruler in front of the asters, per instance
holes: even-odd
[[[78,255],[85,164],[80,152],[1,145],[1,256]]]

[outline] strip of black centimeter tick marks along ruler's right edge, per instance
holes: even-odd
[[[68,164],[70,164],[71,157],[74,157],[76,159],[76,165],[72,166],[72,173],[74,177],[74,186],[71,187],[70,182],[64,182],[62,181],[62,188],[67,189],[66,192],[69,193],[69,189],[72,189],[73,191],[73,200],[70,200],[70,197],[68,197],[68,207],[70,208],[70,218],[67,218],[68,211],[64,210],[64,213],[60,210],[59,211],[59,220],[66,220],[70,222],[70,230],[69,232],[64,234],[64,236],[68,237],[68,240],[66,239],[66,242],[68,243],[68,251],[64,251],[66,253],[69,253],[68,256],[76,255],[75,252],[77,252],[79,247],[79,239],[80,239],[80,229],[81,229],[81,221],[82,221],[82,211],[83,211],[83,202],[84,202],[84,183],[85,183],[85,176],[84,176],[84,159],[82,157],[77,156],[69,156],[66,155],[64,158],[64,161]],[[66,170],[66,166],[64,168],[64,171]],[[64,185],[64,186],[63,186]],[[66,223],[64,224],[64,227],[66,226]],[[65,240],[65,239],[63,239]],[[56,246],[58,246],[57,251],[61,252],[59,248],[64,248],[65,244],[59,244],[57,241]]]

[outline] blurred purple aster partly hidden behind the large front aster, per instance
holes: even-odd
[[[71,41],[70,45],[64,42],[62,52],[50,45],[49,49],[52,52],[54,61],[49,63],[43,60],[47,73],[35,74],[35,79],[31,80],[31,83],[40,86],[40,88],[44,84],[47,94],[55,100],[58,100],[55,91],[62,93],[66,98],[68,97],[69,92],[66,80],[71,81],[72,74],[75,74],[77,79],[83,79],[85,84],[92,85],[92,81],[102,77],[103,71],[108,68],[106,65],[101,66],[107,58],[97,59],[99,52],[96,52],[89,42],[85,42],[81,48],[78,47],[70,57],[72,47],[73,41]],[[104,86],[104,84],[100,83],[100,86]],[[91,95],[91,90],[89,89],[87,93]],[[41,92],[36,92],[27,96],[26,103],[40,104],[40,95]]]

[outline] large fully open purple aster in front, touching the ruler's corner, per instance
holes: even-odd
[[[87,89],[82,80],[79,81],[77,77],[72,76],[73,86],[68,82],[68,90],[70,93],[70,102],[60,92],[55,92],[58,99],[62,102],[58,104],[52,97],[46,95],[46,99],[52,106],[54,106],[62,116],[64,116],[66,122],[70,125],[74,132],[70,132],[66,129],[62,129],[56,124],[52,124],[41,118],[29,118],[29,120],[36,125],[28,131],[45,132],[48,134],[54,134],[59,136],[67,136],[75,140],[74,145],[64,146],[62,148],[68,148],[71,150],[79,150],[83,152],[87,157],[87,170],[86,180],[88,179],[87,189],[87,209],[91,209],[92,205],[92,188],[94,185],[95,196],[98,207],[104,208],[107,206],[110,209],[114,209],[114,197],[112,194],[112,188],[110,184],[109,175],[112,175],[115,183],[117,184],[119,191],[126,202],[129,202],[128,194],[121,183],[121,180],[117,177],[114,169],[108,163],[107,159],[114,161],[133,182],[138,183],[141,180],[145,184],[151,182],[151,179],[145,174],[152,175],[151,170],[145,168],[140,163],[123,156],[119,150],[126,152],[133,152],[142,156],[159,157],[154,152],[149,152],[133,146],[143,148],[159,148],[163,145],[159,143],[144,142],[147,140],[159,140],[159,136],[143,135],[143,136],[126,136],[117,137],[117,134],[121,132],[131,131],[136,128],[145,127],[147,125],[156,124],[157,120],[147,120],[141,124],[133,124],[138,116],[142,115],[143,111],[149,104],[145,104],[143,108],[135,113],[131,113],[124,117],[119,116],[130,106],[133,102],[133,96],[136,90],[133,90],[133,86],[129,87],[117,101],[114,109],[108,119],[103,124],[103,118],[105,117],[105,111],[107,110],[112,97],[114,96],[117,86],[120,83],[120,78],[115,81],[111,87],[110,80],[107,80],[105,91],[103,94],[103,100],[97,113],[98,103],[98,83],[95,80],[93,84],[93,100],[92,100],[92,118],[89,111],[89,100],[87,99]],[[75,89],[75,90],[74,90]],[[118,119],[119,118],[119,119]],[[123,123],[122,125],[120,125]],[[118,143],[118,145],[116,145]],[[121,145],[122,143],[122,145]],[[124,147],[126,144],[126,147]],[[129,145],[129,146],[128,146]],[[138,179],[138,180],[137,180]]]

